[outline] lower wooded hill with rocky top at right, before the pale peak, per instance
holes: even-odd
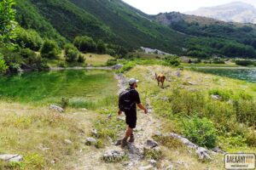
[[[256,26],[253,24],[227,23],[176,12],[157,14],[153,20],[188,37],[187,55],[256,58]]]

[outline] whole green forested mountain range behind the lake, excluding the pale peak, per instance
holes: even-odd
[[[256,25],[188,14],[144,14],[121,0],[16,0],[16,19],[62,46],[76,36],[133,50],[210,58],[256,58]]]

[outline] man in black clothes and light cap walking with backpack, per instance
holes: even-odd
[[[129,142],[134,142],[133,128],[137,123],[137,106],[148,114],[148,110],[141,104],[140,96],[135,88],[137,88],[137,82],[135,78],[129,80],[129,88],[119,95],[119,115],[125,112],[125,122],[128,125],[125,138],[122,139],[121,147],[124,148],[128,143],[127,139],[130,137]]]

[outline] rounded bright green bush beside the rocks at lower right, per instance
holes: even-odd
[[[183,135],[191,142],[213,148],[217,141],[217,129],[206,117],[192,116],[183,120]]]

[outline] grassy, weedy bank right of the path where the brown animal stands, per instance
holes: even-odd
[[[165,88],[157,87],[155,72],[166,75]],[[255,84],[194,71],[181,71],[181,75],[177,77],[177,69],[158,65],[136,66],[126,73],[141,80],[139,90],[167,120],[166,132],[182,133],[202,146],[255,150]],[[201,126],[210,133],[206,139],[200,139],[203,132],[197,133]]]

